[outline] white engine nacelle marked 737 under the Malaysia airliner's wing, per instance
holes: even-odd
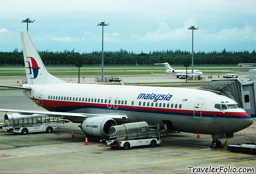
[[[88,135],[108,137],[108,130],[112,125],[117,125],[114,119],[105,116],[94,116],[85,119],[80,128]]]

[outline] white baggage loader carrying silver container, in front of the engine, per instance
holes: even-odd
[[[160,144],[160,136],[167,135],[166,125],[148,125],[147,122],[125,123],[109,128],[109,140],[101,140],[101,147],[127,150],[133,146],[149,145],[155,147]]]

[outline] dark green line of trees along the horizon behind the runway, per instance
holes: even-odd
[[[64,50],[63,52],[39,51],[45,65],[100,65],[102,52],[79,53]],[[134,53],[120,49],[119,51],[105,51],[104,65],[152,65],[154,63],[168,62],[171,65],[191,64],[191,52],[179,50],[153,51],[149,53]],[[256,53],[249,51],[222,52],[194,52],[194,64],[238,64],[256,63]],[[0,65],[24,65],[23,52],[15,48],[13,52],[0,52]]]

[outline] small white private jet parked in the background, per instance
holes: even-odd
[[[164,64],[165,68],[166,68],[166,73],[168,74],[171,74],[171,75],[176,75],[177,78],[179,78],[179,76],[186,76],[186,75],[203,75],[203,73],[200,71],[200,70],[193,70],[193,73],[192,73],[192,70],[175,70],[173,68],[171,68],[170,64],[168,64],[167,62],[165,63],[162,63]],[[154,74],[152,71],[151,71],[152,74]],[[166,75],[166,74],[156,74],[156,75]]]

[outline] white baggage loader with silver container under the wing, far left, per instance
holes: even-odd
[[[5,114],[3,129],[6,132],[21,133],[23,135],[28,132],[52,132],[59,129],[58,123],[69,121],[60,120],[56,117],[42,116],[41,114],[21,115],[19,113]]]

